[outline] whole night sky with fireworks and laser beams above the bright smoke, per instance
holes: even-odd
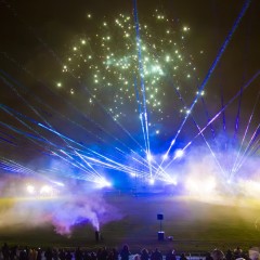
[[[258,0],[0,6],[0,172],[169,180],[206,155],[256,172]]]

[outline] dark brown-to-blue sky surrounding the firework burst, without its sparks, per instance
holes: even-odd
[[[151,14],[155,10],[166,15],[171,21],[172,27],[182,28],[182,25],[187,25],[191,28],[188,40],[182,50],[184,55],[196,64],[196,77],[191,82],[184,81],[181,77],[178,81],[183,84],[181,95],[186,102],[186,109],[196,99],[196,88],[202,86],[220,54],[221,47],[245,2],[247,1],[138,1],[140,24],[150,25],[151,21],[151,31],[154,38],[158,36],[158,42],[160,32],[167,28],[164,25],[159,27],[158,24],[157,27],[153,27]],[[123,93],[122,99],[126,99],[123,104],[115,108],[114,98],[120,93],[120,87],[116,83],[118,89],[115,87],[113,90],[107,88],[102,90],[103,92],[93,101],[94,104],[90,106],[87,103],[93,98],[94,87],[90,81],[93,77],[92,70],[76,68],[65,77],[62,76],[65,61],[77,38],[90,39],[91,53],[99,57],[99,61],[93,63],[99,63],[101,66],[105,56],[99,54],[101,50],[94,36],[101,34],[103,21],[114,21],[120,13],[130,15],[134,26],[133,1],[5,0],[0,4],[0,160],[23,164],[43,157],[42,160],[48,161],[52,156],[63,157],[64,155],[57,152],[60,150],[73,153],[72,147],[84,150],[84,153],[91,156],[95,151],[122,161],[128,160],[131,150],[144,157],[142,127],[139,114],[134,114],[136,102],[128,101]],[[178,147],[185,146],[196,136],[198,128],[194,125],[194,120],[204,128],[259,72],[259,13],[260,2],[252,0],[205,86],[204,100],[198,100],[192,113],[193,118],[190,116],[182,128]],[[88,14],[91,14],[91,21]],[[142,32],[141,29],[140,37],[144,39]],[[112,37],[116,34],[116,29],[112,27]],[[135,36],[132,37],[132,41],[135,41]],[[115,44],[115,52],[120,53],[120,39],[117,39]],[[153,55],[159,56],[160,51],[157,49]],[[172,67],[168,69],[171,70]],[[78,75],[84,80],[78,79]],[[180,114],[180,109],[184,107],[183,102],[180,101],[180,93],[171,88],[174,83],[170,74],[167,78],[167,81],[160,84],[165,87],[160,114],[156,114],[148,105],[146,107],[147,123],[151,123],[148,134],[151,151],[155,154],[166,152],[185,118],[185,114]],[[61,79],[63,88],[57,89]],[[131,77],[129,80],[134,81]],[[224,132],[227,139],[235,136],[239,145],[251,116],[247,138],[249,142],[260,122],[260,103],[256,103],[260,91],[259,84],[260,79],[256,78],[216,119],[213,126],[207,128],[205,133],[210,142],[213,142],[213,135],[221,135]],[[146,91],[148,94],[148,90]],[[131,92],[134,93],[133,88]],[[122,117],[115,122],[113,120],[115,115],[109,114],[109,108],[121,110]],[[44,125],[46,128],[39,123]],[[255,144],[258,140],[259,135],[256,135]],[[203,141],[199,139],[198,143]],[[115,152],[115,147],[123,153]],[[47,159],[46,154],[50,156]],[[68,157],[66,159],[70,160],[70,164],[72,160],[77,160]]]

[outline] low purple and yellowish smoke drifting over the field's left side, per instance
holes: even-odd
[[[21,196],[25,182],[18,185],[20,188],[10,177],[0,181],[0,227],[52,224],[56,233],[70,236],[73,227],[78,224],[90,223],[99,231],[101,225],[121,218],[119,211],[108,205],[102,192],[96,190],[70,184],[60,195],[40,197]]]

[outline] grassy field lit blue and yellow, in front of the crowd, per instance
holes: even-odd
[[[260,203],[257,199],[206,200],[161,194],[106,194],[104,199],[120,219],[101,224],[103,240],[100,243],[95,243],[94,229],[88,223],[75,226],[69,237],[56,234],[52,225],[5,226],[0,230],[0,243],[87,248],[104,245],[120,248],[127,243],[135,252],[143,247],[158,247],[162,251],[174,248],[198,253],[217,247],[224,251],[236,246],[248,249],[260,242]],[[4,207],[2,203],[1,210]],[[164,214],[161,223],[157,220],[158,213]],[[164,240],[158,240],[160,229],[165,232]]]

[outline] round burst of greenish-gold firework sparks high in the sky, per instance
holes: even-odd
[[[172,88],[171,83],[174,82],[185,93],[185,84],[193,82],[190,86],[194,86],[197,81],[194,57],[185,47],[190,27],[157,10],[141,21],[141,39],[138,42],[130,14],[88,21],[87,26],[96,29],[92,34],[75,37],[70,51],[65,54],[63,73],[73,74],[86,83],[92,93],[88,98],[89,106],[96,99],[108,107],[115,119],[128,117],[131,106],[139,113],[135,91],[140,90],[134,81],[142,79],[150,115],[155,114],[156,121],[164,121],[165,100],[167,89]],[[139,48],[142,51],[142,72],[139,67]],[[66,88],[68,91],[69,87]],[[188,91],[195,94],[195,89]],[[76,89],[74,93],[77,94]],[[142,102],[138,100],[138,103]]]

